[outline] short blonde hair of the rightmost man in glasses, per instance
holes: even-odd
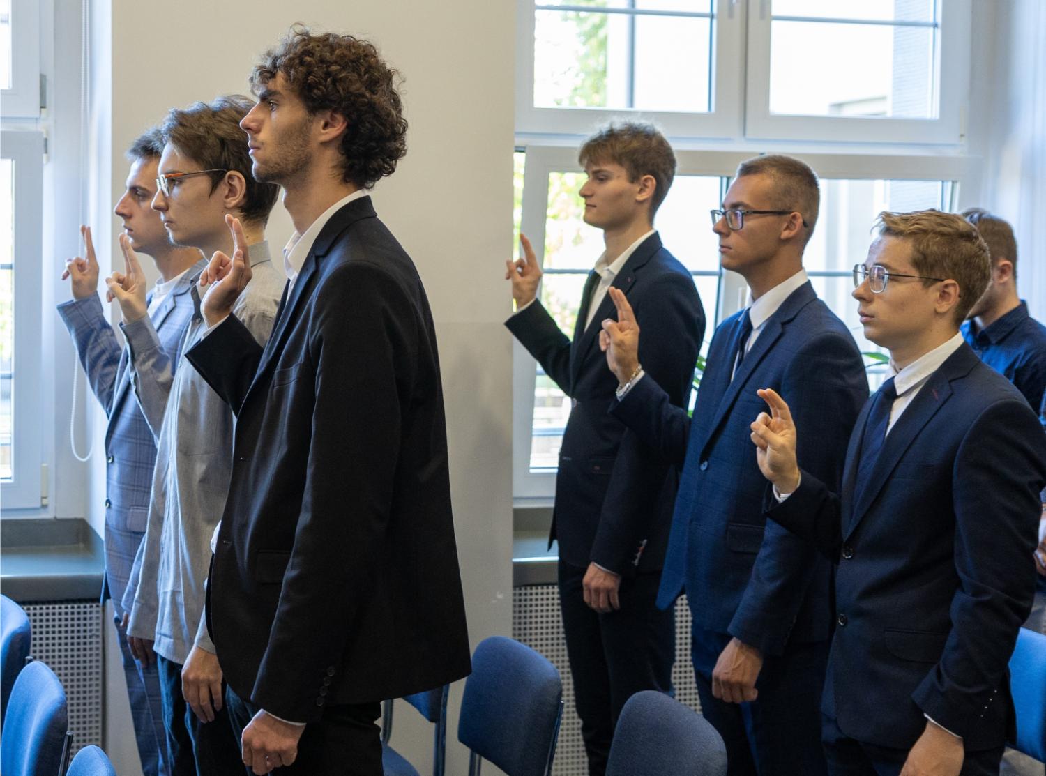
[[[967,313],[984,294],[992,278],[991,253],[977,228],[961,215],[940,210],[909,213],[884,210],[876,225],[881,236],[909,242],[912,267],[919,275],[955,280],[959,284],[955,321],[965,320]],[[923,284],[932,282],[924,280]]]

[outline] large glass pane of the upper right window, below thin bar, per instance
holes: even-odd
[[[770,110],[934,118],[936,56],[935,28],[775,21]]]

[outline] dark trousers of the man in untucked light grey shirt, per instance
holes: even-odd
[[[237,773],[244,767],[240,740],[232,733],[225,706],[211,722],[200,722],[182,695],[182,666],[157,655],[156,667],[172,776]]]

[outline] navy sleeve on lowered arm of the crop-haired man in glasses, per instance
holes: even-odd
[[[854,341],[838,334],[812,338],[784,372],[781,395],[795,418],[799,464],[820,482],[838,487],[842,480],[846,448],[867,398],[867,385]],[[829,560],[834,562],[835,555]],[[765,655],[780,655],[818,563],[813,543],[768,523],[730,621],[730,635]]]

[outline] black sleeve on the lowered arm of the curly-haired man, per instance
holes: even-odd
[[[319,677],[340,665],[377,564],[401,465],[424,326],[384,271],[350,263],[316,291],[305,363],[315,370],[301,511],[279,606],[251,692],[286,720],[314,722]],[[332,627],[331,623],[341,623]],[[302,634],[311,634],[302,638]],[[290,689],[289,689],[290,688]]]

